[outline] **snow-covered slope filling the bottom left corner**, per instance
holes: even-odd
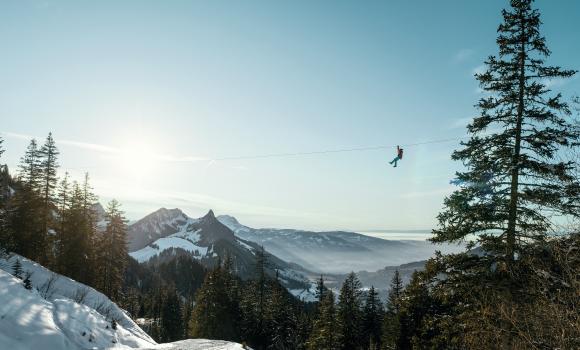
[[[12,275],[18,259],[32,289]],[[112,319],[117,322],[112,328]],[[0,258],[0,349],[107,349],[156,343],[102,293],[12,254]]]

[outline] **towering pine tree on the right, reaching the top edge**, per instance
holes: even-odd
[[[460,188],[445,199],[433,231],[435,242],[474,235],[508,267],[527,244],[545,239],[552,214],[580,215],[575,165],[556,160],[579,144],[580,131],[568,121],[561,94],[548,87],[575,72],[545,64],[550,51],[532,2],[512,0],[502,12],[499,56],[476,74],[486,93],[477,104],[481,114],[468,125],[471,139],[452,156],[467,170],[457,173]]]

